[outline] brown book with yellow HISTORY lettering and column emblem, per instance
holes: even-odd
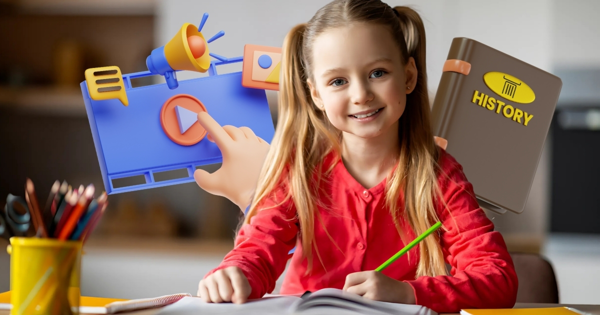
[[[452,40],[433,131],[448,140],[482,208],[523,212],[561,87],[559,77],[478,41]]]

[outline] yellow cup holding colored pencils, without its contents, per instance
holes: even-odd
[[[79,314],[80,241],[10,238],[13,315]]]

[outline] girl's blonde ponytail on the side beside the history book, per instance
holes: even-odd
[[[425,67],[425,27],[415,10],[409,7],[394,7],[400,20],[400,28],[406,43],[406,58],[415,59],[417,82],[413,91],[406,95],[406,109],[400,117],[398,130],[401,139],[400,165],[392,175],[388,196],[404,191],[404,212],[415,235],[421,235],[438,221],[436,202],[442,196],[437,175],[439,174],[439,148],[433,140],[430,121],[430,102],[427,89],[427,67]],[[396,185],[399,183],[400,185]],[[394,221],[399,223],[400,209],[388,199]],[[416,276],[445,275],[439,234],[425,238],[419,247],[421,259]]]

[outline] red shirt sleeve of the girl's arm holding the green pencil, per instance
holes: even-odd
[[[440,242],[451,275],[406,281],[415,291],[416,304],[438,313],[462,308],[512,308],[518,280],[502,235],[475,199],[463,168],[442,150],[440,188],[448,208],[440,203],[443,228]]]

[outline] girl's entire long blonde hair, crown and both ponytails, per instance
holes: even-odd
[[[341,133],[329,123],[325,112],[317,109],[310,97],[307,79],[311,77],[311,49],[314,39],[328,29],[354,22],[388,26],[407,62],[415,59],[417,83],[407,95],[407,105],[398,128],[398,167],[388,176],[386,205],[401,236],[401,220],[407,220],[416,235],[438,220],[434,204],[440,196],[437,174],[439,148],[433,140],[425,68],[425,28],[419,14],[408,7],[391,8],[380,0],[335,0],[325,5],[305,24],[295,26],[286,36],[281,61],[279,116],[271,149],[254,193],[244,224],[260,211],[260,203],[271,196],[278,185],[285,185],[300,225],[304,257],[312,268],[316,242],[314,224],[320,221],[320,175],[331,166],[323,158],[332,150],[340,151]],[[314,176],[314,175],[319,176]],[[404,209],[404,211],[403,211]],[[421,242],[421,259],[416,276],[446,274],[439,235]],[[308,271],[307,271],[308,272]]]

